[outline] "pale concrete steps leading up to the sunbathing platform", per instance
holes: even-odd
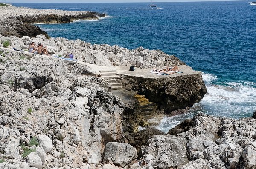
[[[122,89],[122,83],[118,82],[119,76],[116,75],[116,70],[100,70],[101,77],[111,84],[111,90]]]

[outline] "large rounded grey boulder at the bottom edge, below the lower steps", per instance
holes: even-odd
[[[135,158],[137,158],[137,151],[131,145],[109,142],[104,149],[103,163],[107,163],[110,160],[116,166],[124,167]]]

